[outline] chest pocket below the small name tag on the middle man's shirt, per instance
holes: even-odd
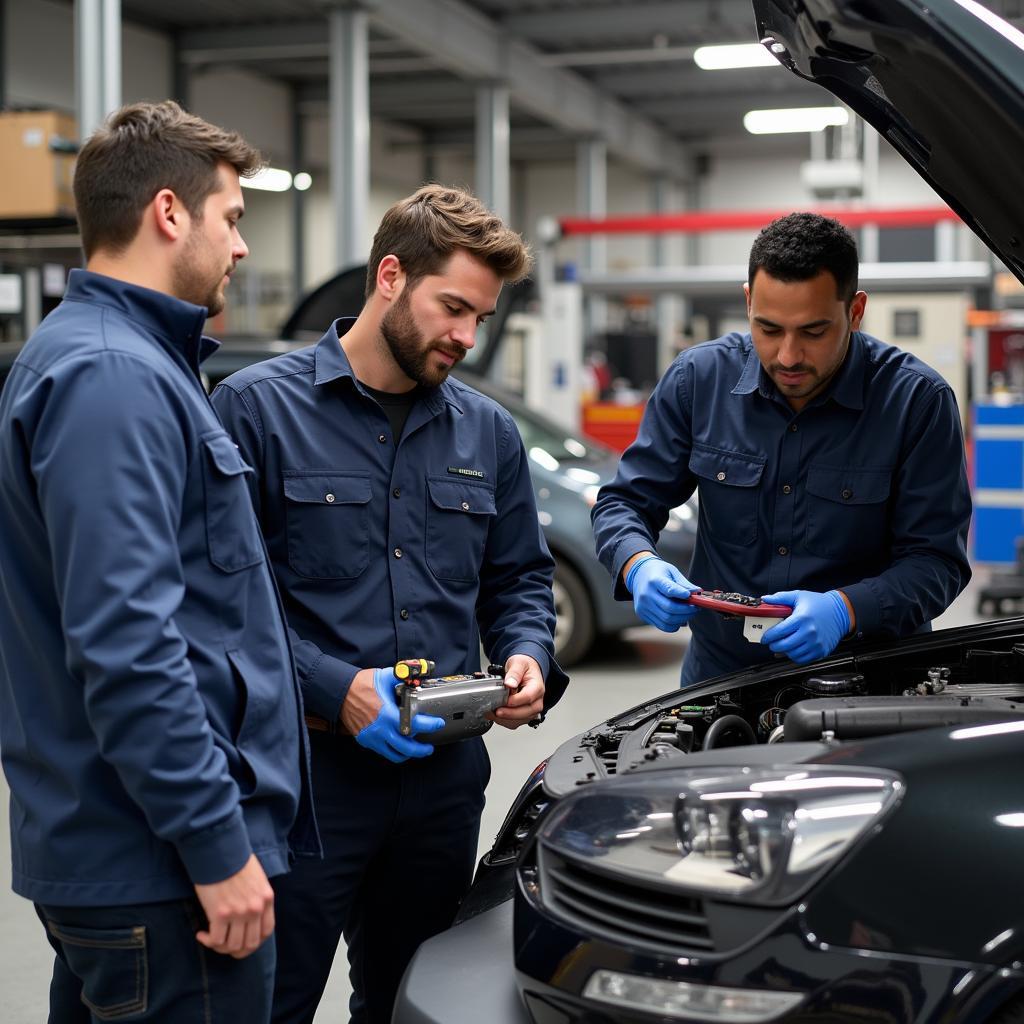
[[[438,580],[478,580],[495,493],[485,484],[427,477],[426,558]]]

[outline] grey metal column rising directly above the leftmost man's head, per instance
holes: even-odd
[[[121,105],[121,0],[76,0],[75,79],[84,139]]]

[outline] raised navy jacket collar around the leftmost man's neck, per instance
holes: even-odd
[[[74,269],[68,279],[65,299],[116,309],[180,355],[197,374],[200,364],[220,347],[219,341],[203,334],[206,306],[176,299],[166,292],[92,270]]]

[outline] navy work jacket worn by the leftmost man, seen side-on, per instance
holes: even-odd
[[[206,309],[73,270],[0,395],[13,887],[187,896],[317,853],[301,694]]]

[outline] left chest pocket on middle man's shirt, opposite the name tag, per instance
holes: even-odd
[[[352,580],[370,564],[370,476],[285,473],[288,564],[309,580]]]

